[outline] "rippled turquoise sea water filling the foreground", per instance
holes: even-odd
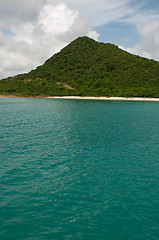
[[[0,240],[158,240],[159,103],[0,98]]]

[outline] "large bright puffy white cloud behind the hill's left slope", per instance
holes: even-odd
[[[0,32],[0,77],[35,68],[83,35],[98,38],[77,11],[65,4],[44,5],[36,21],[12,22],[8,35]]]

